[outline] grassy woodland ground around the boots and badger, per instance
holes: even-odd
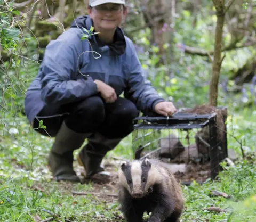
[[[228,136],[229,149],[241,155],[236,139],[246,141],[245,157],[235,167],[221,172],[218,181],[182,186],[186,203],[181,222],[256,221],[255,116],[252,111],[236,113],[229,125],[233,132]],[[11,118],[6,115],[5,121]],[[124,221],[117,202],[118,160],[113,157],[131,158],[131,136],[105,159],[110,180],[72,184],[54,181],[47,168],[52,138],[33,133],[23,116],[9,122],[0,136],[0,221]],[[82,177],[83,169],[76,160],[74,168]],[[218,192],[222,194],[216,196]]]

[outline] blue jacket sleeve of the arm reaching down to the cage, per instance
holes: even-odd
[[[124,96],[131,100],[137,106],[138,110],[144,114],[148,114],[149,112],[155,111],[154,109],[157,103],[165,100],[158,95],[151,82],[143,75],[143,69],[133,44],[130,47],[132,50],[129,60],[131,65],[130,77],[127,89],[124,91]]]

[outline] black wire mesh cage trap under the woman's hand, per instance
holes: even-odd
[[[172,117],[143,116],[134,119],[132,149],[134,159],[157,158],[170,163],[193,163],[209,167],[207,178],[215,179],[221,170],[220,162],[227,157],[226,116],[222,137],[217,132],[217,114],[175,113]],[[196,170],[196,167],[193,168]],[[205,169],[201,169],[204,171]],[[183,176],[186,177],[186,172]],[[202,172],[198,171],[198,174]],[[182,179],[185,183],[190,178]]]

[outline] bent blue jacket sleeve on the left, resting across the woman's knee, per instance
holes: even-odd
[[[71,79],[71,75],[78,72],[78,57],[82,53],[82,40],[76,30],[63,32],[47,45],[41,67],[41,97],[46,104],[67,104],[97,93],[97,85],[91,77]]]

